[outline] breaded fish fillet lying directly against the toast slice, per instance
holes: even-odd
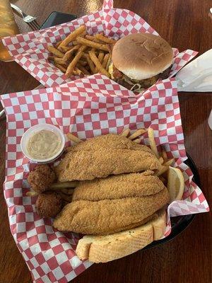
[[[123,197],[115,200],[76,200],[66,204],[54,219],[59,231],[106,235],[146,223],[167,204],[167,189],[146,197]]]

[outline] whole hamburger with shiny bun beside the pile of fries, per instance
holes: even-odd
[[[109,73],[117,83],[139,92],[166,79],[172,62],[172,47],[162,37],[133,33],[115,43]]]

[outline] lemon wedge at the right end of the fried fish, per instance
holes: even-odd
[[[170,194],[170,202],[174,202],[174,200],[182,200],[184,177],[178,168],[169,167],[167,174],[167,190]]]

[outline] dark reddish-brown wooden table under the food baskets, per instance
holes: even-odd
[[[100,0],[17,0],[11,1],[26,13],[37,16],[41,24],[52,11],[78,16],[102,7]],[[114,1],[114,6],[127,8],[142,16],[173,47],[180,51],[201,53],[212,46],[212,19],[208,11],[211,0],[128,0]],[[20,32],[30,30],[16,16]],[[0,62],[0,94],[33,89],[38,82],[18,64]],[[212,131],[207,118],[212,108],[212,93],[179,93],[185,146],[201,178],[201,189],[209,204],[212,196]],[[0,121],[0,182],[4,181],[6,122]],[[210,192],[211,190],[211,192]],[[210,192],[210,193],[209,193]],[[0,283],[32,282],[8,226],[3,190],[0,196]],[[163,246],[139,251],[107,264],[93,265],[72,282],[212,282],[211,214],[199,214],[174,241]]]

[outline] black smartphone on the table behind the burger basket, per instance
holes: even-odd
[[[46,19],[46,21],[40,26],[40,30],[43,28],[49,28],[53,25],[59,25],[61,23],[67,23],[73,21],[77,18],[76,15],[71,15],[69,13],[52,12]]]

